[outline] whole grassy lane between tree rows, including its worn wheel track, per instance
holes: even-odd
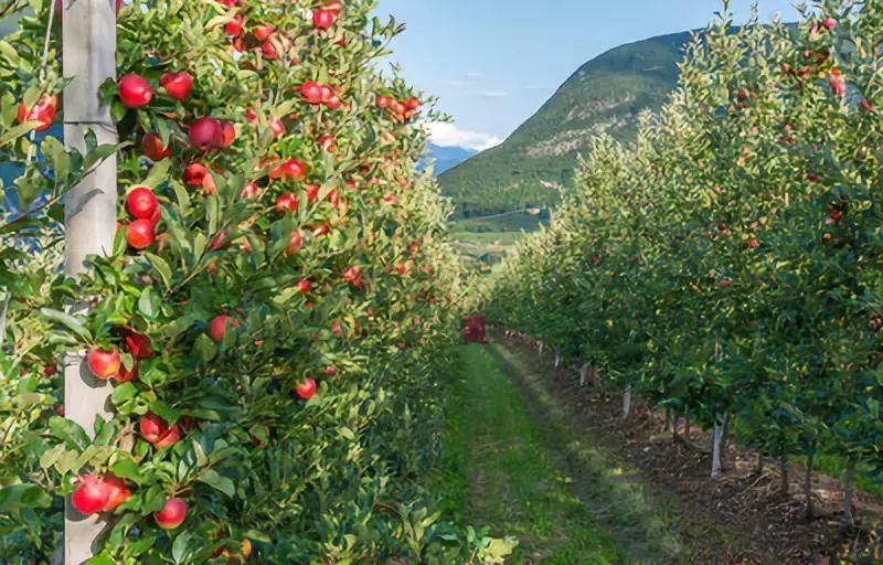
[[[468,523],[519,539],[507,563],[690,563],[691,539],[710,532],[581,431],[515,353],[462,347],[434,489]]]

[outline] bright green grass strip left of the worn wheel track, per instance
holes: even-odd
[[[520,541],[508,563],[628,563],[556,470],[538,424],[488,350],[460,350],[448,402],[445,466],[430,481],[445,510]]]

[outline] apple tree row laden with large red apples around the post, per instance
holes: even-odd
[[[401,28],[371,1],[118,3],[121,142],[79,156],[29,139],[66,84],[64,7],[29,6],[0,41],[0,558],[50,558],[70,497],[106,523],[93,565],[501,562],[419,481],[460,274],[415,169],[436,114],[380,67]],[[111,153],[114,247],[65,278],[63,196]],[[67,351],[113,386],[94,439]]]

